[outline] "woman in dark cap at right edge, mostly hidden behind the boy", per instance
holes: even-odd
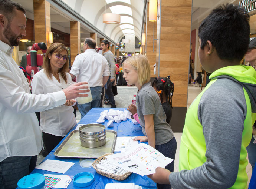
[[[249,49],[244,56],[247,66],[252,66],[256,69],[256,37],[250,38]],[[252,139],[250,144],[246,147],[248,159],[252,166],[252,170],[256,163],[256,122],[252,126]]]

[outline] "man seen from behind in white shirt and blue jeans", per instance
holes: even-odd
[[[95,40],[86,38],[83,42],[85,52],[76,56],[69,72],[72,79],[76,77],[77,82],[86,81],[90,85],[92,102],[78,104],[81,118],[93,107],[99,107],[102,86],[108,81],[110,73],[107,60],[101,54],[96,53],[95,47]]]

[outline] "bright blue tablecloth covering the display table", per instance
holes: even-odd
[[[85,117],[81,119],[79,123],[81,124],[88,124],[88,123],[96,123],[96,120],[99,118],[100,113],[109,108],[93,108],[91,109]],[[115,108],[115,110],[122,110],[124,111],[124,108]],[[79,124],[78,123],[78,124]],[[103,123],[105,126],[107,125],[108,120],[105,120]],[[76,128],[76,126],[73,128],[73,130]],[[114,122],[114,127],[108,127],[107,130],[115,130],[117,132],[117,136],[144,136],[141,130],[140,125],[134,125],[131,120],[127,119],[127,121],[122,121],[120,123],[115,123]],[[65,138],[63,139],[65,140]],[[63,140],[60,142],[62,143]],[[59,145],[60,145],[59,143]],[[53,153],[54,151],[59,147],[56,146],[55,149],[47,156],[43,161],[46,159],[53,159],[53,160],[60,160],[60,161],[67,161],[67,162],[73,162],[75,165],[73,165],[66,173],[65,175],[69,176],[75,176],[77,173],[80,172],[90,172],[94,175],[94,182],[90,185],[85,187],[86,189],[104,189],[105,185],[107,183],[135,183],[136,185],[142,186],[144,189],[156,189],[157,185],[155,182],[153,182],[150,178],[147,176],[140,176],[137,174],[132,173],[131,175],[128,176],[127,179],[123,181],[117,181],[102,175],[99,175],[96,173],[96,170],[93,168],[82,168],[80,167],[79,163],[84,160],[84,159],[79,159],[79,158],[60,158],[56,157]],[[61,173],[56,173],[56,172],[50,172],[46,170],[41,170],[41,169],[34,169],[32,173],[40,173],[40,174],[61,174]],[[73,184],[73,181],[69,184],[68,189],[79,189],[79,187],[76,187]]]

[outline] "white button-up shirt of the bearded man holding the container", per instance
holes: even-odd
[[[12,51],[13,47],[0,41],[0,162],[11,156],[37,155],[42,149],[42,131],[34,112],[66,102],[63,91],[30,94]]]

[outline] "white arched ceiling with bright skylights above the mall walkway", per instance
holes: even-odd
[[[140,39],[144,0],[62,0],[106,36],[117,42],[125,33]],[[120,14],[120,24],[102,22],[104,13]]]

